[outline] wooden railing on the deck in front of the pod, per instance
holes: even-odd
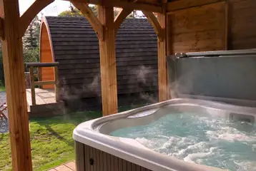
[[[30,86],[31,86],[31,100],[32,105],[36,105],[36,92],[35,92],[35,86],[44,86],[44,85],[50,85],[54,84],[55,88],[55,98],[56,102],[59,101],[59,71],[58,71],[58,62],[54,63],[27,63],[27,68],[29,68],[29,75],[30,75]],[[34,81],[34,78],[40,78],[41,77],[41,70],[40,68],[43,67],[54,67],[54,81]],[[34,68],[38,68],[37,74],[34,73]]]

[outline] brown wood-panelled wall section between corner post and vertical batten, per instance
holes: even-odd
[[[170,53],[225,50],[225,10],[219,2],[168,14]]]

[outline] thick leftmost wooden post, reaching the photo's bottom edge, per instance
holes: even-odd
[[[4,19],[4,40],[1,45],[9,112],[12,170],[31,171],[29,115],[26,108],[22,40],[19,35],[19,0],[0,0],[0,16]]]

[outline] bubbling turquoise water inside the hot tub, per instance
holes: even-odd
[[[149,125],[122,128],[110,135],[134,138],[187,162],[231,171],[256,170],[256,126],[252,123],[172,113]]]

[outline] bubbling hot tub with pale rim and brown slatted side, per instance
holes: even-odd
[[[148,145],[145,145],[142,141],[137,140],[136,138],[130,138],[126,135],[134,135],[136,134],[136,129],[139,127],[144,127],[145,125],[153,124],[154,122],[157,122],[156,120],[161,120],[161,122],[164,122],[165,125],[168,124],[168,119],[164,118],[167,115],[169,116],[175,116],[179,117],[179,115],[187,115],[183,113],[189,113],[189,115],[193,115],[196,118],[195,120],[205,120],[205,117],[213,118],[214,120],[222,120],[222,122],[227,121],[227,128],[229,124],[232,123],[242,123],[242,129],[244,127],[249,128],[248,130],[250,133],[254,133],[254,123],[255,123],[255,113],[256,108],[252,107],[242,107],[237,105],[230,105],[226,103],[217,103],[212,102],[209,100],[198,100],[198,99],[189,99],[189,98],[179,98],[179,99],[173,99],[173,100],[167,100],[163,103],[156,103],[153,105],[148,105],[143,108],[137,108],[134,110],[129,110],[123,113],[118,113],[116,115],[109,115],[104,118],[99,118],[96,120],[90,120],[85,123],[82,123],[75,128],[73,133],[73,138],[75,140],[75,146],[76,146],[76,162],[77,162],[77,170],[186,170],[186,171],[200,171],[200,170],[227,170],[230,168],[223,167],[213,167],[211,165],[211,162],[207,162],[209,166],[207,165],[200,165],[203,162],[199,162],[200,164],[197,164],[195,161],[192,160],[192,157],[195,157],[195,154],[187,152],[187,157],[180,158],[174,157],[174,152],[171,152],[172,155],[168,155],[168,152],[161,152],[160,150],[154,149],[154,147],[149,147]],[[186,117],[189,117],[187,115]],[[183,116],[182,116],[183,117]],[[163,119],[164,118],[164,119]],[[211,120],[213,120],[211,119]],[[173,118],[170,119],[170,122],[173,122]],[[184,120],[186,120],[185,123]],[[182,125],[180,128],[186,128],[187,124],[195,123],[195,120],[190,120],[189,118],[182,118],[179,121],[175,121],[175,124],[173,125]],[[206,119],[207,120],[207,119]],[[217,121],[219,122],[219,121]],[[207,124],[211,125],[211,121],[209,121]],[[144,126],[143,126],[144,125]],[[196,125],[196,124],[194,124]],[[245,125],[245,126],[244,126]],[[154,128],[156,125],[152,126]],[[232,126],[231,126],[232,127]],[[131,131],[131,128],[134,128],[132,133],[127,133],[125,131]],[[151,129],[152,129],[151,128]],[[179,129],[180,129],[179,128]],[[192,129],[194,132],[199,131],[202,127],[197,127],[195,129]],[[225,128],[225,127],[224,127]],[[140,129],[140,128],[139,128]],[[172,127],[172,130],[178,129],[175,127]],[[214,133],[217,131],[215,129],[213,130],[204,130],[205,128],[202,128],[203,133],[202,134],[209,134],[212,136],[212,139],[209,140],[209,142],[213,142],[214,140],[221,139],[221,142],[223,143],[229,143],[229,142],[240,142],[241,139],[245,140],[245,142],[239,143],[239,145],[243,145],[245,143],[250,143],[252,147],[255,147],[255,149],[252,149],[248,152],[248,159],[250,160],[256,160],[256,139],[254,137],[250,137],[249,135],[240,134],[240,133],[225,133],[221,132],[221,135],[215,135]],[[237,128],[239,130],[239,128]],[[169,131],[169,130],[168,130]],[[191,130],[189,130],[191,131]],[[212,131],[212,132],[211,132]],[[220,129],[222,131],[222,128]],[[244,131],[244,130],[242,130]],[[172,132],[172,131],[171,131]],[[185,131],[184,131],[185,132]],[[123,134],[122,134],[123,133]],[[150,131],[151,134],[157,134],[157,130],[154,132],[154,129]],[[190,132],[186,132],[190,133]],[[219,133],[219,132],[216,132]],[[172,133],[171,133],[172,134]],[[117,137],[116,135],[121,135],[120,137]],[[124,136],[122,136],[124,135]],[[182,132],[182,135],[179,135],[177,137],[182,137],[184,133]],[[199,132],[197,135],[201,135]],[[165,136],[168,138],[168,136]],[[184,135],[186,137],[186,135]],[[160,138],[160,137],[159,137]],[[197,139],[197,137],[194,137]],[[157,139],[155,139],[157,140]],[[181,139],[183,140],[183,139]],[[186,139],[184,139],[184,142],[186,142]],[[158,145],[156,142],[154,145]],[[177,145],[179,142],[173,142],[169,144],[168,149],[173,150],[174,148],[177,149],[175,145]],[[197,142],[195,142],[196,144]],[[146,143],[147,144],[147,143]],[[193,142],[192,142],[193,144]],[[200,143],[197,143],[200,145]],[[153,145],[153,146],[154,146]],[[201,143],[202,145],[202,143]],[[236,144],[238,145],[238,144]],[[191,150],[193,145],[183,147],[184,149]],[[172,149],[173,147],[173,149]],[[189,149],[190,147],[190,149]],[[194,145],[195,147],[195,145]],[[234,150],[233,153],[229,153],[227,155],[237,155],[236,150],[240,146],[234,147],[229,150]],[[247,148],[246,148],[247,149]],[[180,149],[178,149],[180,150]],[[212,150],[215,150],[212,148]],[[247,149],[248,150],[248,149]],[[199,157],[200,160],[205,159],[205,155],[210,154],[211,150],[208,151],[197,151],[196,155]],[[184,150],[183,150],[184,152]],[[255,152],[255,153],[254,153]],[[193,152],[192,152],[193,153]],[[194,152],[195,153],[195,152]],[[192,156],[193,155],[193,156]],[[220,153],[220,157],[223,154]],[[232,155],[230,155],[232,158]],[[249,156],[252,155],[252,156]],[[190,158],[189,158],[190,157]],[[218,156],[215,156],[218,157]],[[223,157],[223,156],[222,156]],[[200,161],[198,160],[198,161]],[[211,160],[214,160],[211,159]],[[230,160],[230,159],[227,159]],[[230,161],[232,162],[232,161]],[[244,162],[244,161],[241,161]],[[235,164],[236,165],[236,164]],[[234,165],[234,168],[237,168],[237,166]],[[250,163],[250,168],[248,170],[255,170],[256,166],[253,166],[255,164]],[[232,167],[232,165],[230,166]],[[233,167],[232,167],[233,168]],[[231,170],[232,170],[231,168]]]

